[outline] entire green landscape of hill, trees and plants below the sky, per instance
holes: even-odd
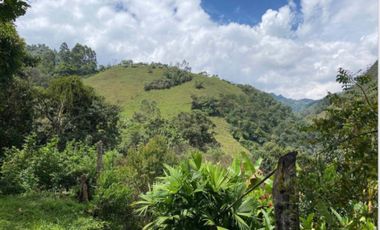
[[[289,106],[186,61],[26,44],[28,7],[0,5],[0,229],[282,229],[273,173],[295,152],[294,229],[377,229],[377,61]]]

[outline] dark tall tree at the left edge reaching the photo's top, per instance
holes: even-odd
[[[14,75],[26,61],[25,43],[13,21],[25,13],[25,1],[5,0],[0,4],[0,158],[2,148],[20,145],[31,127],[29,87]]]

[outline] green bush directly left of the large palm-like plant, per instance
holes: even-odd
[[[161,136],[131,149],[125,157],[116,152],[107,153],[93,202],[95,214],[112,223],[112,229],[141,229],[139,223],[143,220],[132,214],[130,205],[163,174],[164,163],[174,162],[175,156]]]

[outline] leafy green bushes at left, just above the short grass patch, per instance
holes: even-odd
[[[40,190],[69,190],[86,174],[95,177],[96,153],[93,147],[70,142],[60,152],[57,139],[37,146],[36,136],[29,136],[21,149],[5,151],[1,167],[1,192],[22,193]]]

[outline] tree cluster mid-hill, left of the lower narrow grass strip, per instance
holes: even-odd
[[[154,136],[160,135],[177,154],[189,147],[205,151],[208,147],[217,145],[214,126],[205,114],[197,111],[165,119],[155,102],[144,100],[140,110],[126,121],[121,149],[128,151],[129,148],[145,144]]]

